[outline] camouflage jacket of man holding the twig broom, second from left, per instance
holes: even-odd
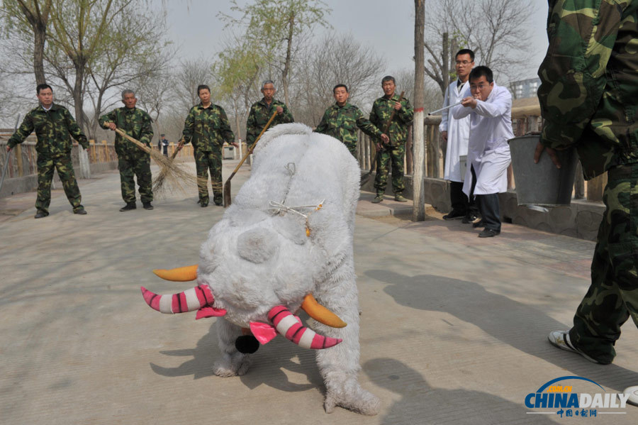
[[[139,140],[150,147],[150,141],[153,138],[152,120],[150,116],[142,109],[122,107],[113,109],[106,115],[100,117],[100,126],[108,128],[106,123],[116,123],[128,136]],[[116,133],[116,153],[122,155],[149,155],[138,148],[137,145],[126,140]]]

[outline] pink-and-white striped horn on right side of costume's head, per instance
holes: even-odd
[[[336,346],[343,341],[341,338],[319,335],[312,329],[306,328],[301,324],[301,319],[284,306],[273,307],[268,313],[268,319],[272,321],[277,332],[303,348],[321,350]]]

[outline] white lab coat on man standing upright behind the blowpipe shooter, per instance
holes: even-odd
[[[463,94],[469,88],[469,82],[464,82],[457,89],[457,80],[449,84],[443,98],[443,108],[459,103]],[[443,178],[452,182],[462,182],[461,155],[467,155],[467,140],[469,138],[470,118],[454,118],[452,108],[443,111],[439,131],[447,131],[447,148],[445,149],[445,168]]]

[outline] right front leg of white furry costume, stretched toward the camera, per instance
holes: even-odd
[[[352,256],[346,257],[331,273],[328,282],[317,288],[320,288],[320,292],[315,292],[318,302],[347,323],[345,328],[335,329],[317,321],[310,321],[318,333],[343,339],[337,346],[317,350],[315,353],[326,387],[325,411],[330,413],[335,406],[341,406],[362,414],[377,414],[381,402],[374,394],[362,389],[357,380],[357,374],[361,369],[359,300]]]

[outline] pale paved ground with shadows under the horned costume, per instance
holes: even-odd
[[[246,177],[235,177],[233,192]],[[1,424],[637,423],[634,407],[561,419],[556,409],[524,404],[556,377],[586,377],[608,392],[638,385],[632,324],[614,365],[593,365],[546,340],[569,326],[588,286],[591,242],[508,224],[479,239],[432,209],[412,223],[401,215],[405,204],[388,197],[375,206],[362,194],[359,376],[383,408],[374,417],[325,414],[310,351],[276,338],[247,375],[216,377],[215,319],[162,316],[142,301],[140,285],[188,287],[150,270],[196,263],[221,207],[174,194],[153,211],[120,213],[116,172],[79,184],[87,216],[72,214],[60,193],[40,220],[35,193],[0,200]]]

